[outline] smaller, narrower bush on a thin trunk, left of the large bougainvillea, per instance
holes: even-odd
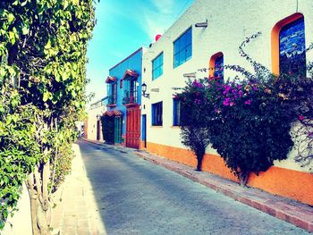
[[[198,164],[197,170],[201,170],[203,156],[209,143],[207,126],[210,120],[205,119],[214,112],[214,106],[206,98],[205,80],[189,81],[182,92],[176,94],[181,102],[181,138],[182,144],[195,153]]]

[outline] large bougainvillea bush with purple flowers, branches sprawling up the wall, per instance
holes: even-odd
[[[202,80],[204,100],[192,95],[192,87],[199,84],[194,80],[184,89],[190,100],[182,99],[182,106],[189,109],[185,115],[201,110],[202,115],[195,120],[189,117],[190,122],[201,124],[212,147],[243,185],[250,172],[266,172],[275,160],[286,159],[292,147],[298,150],[295,159],[302,165],[312,164],[313,159],[313,80],[291,72],[275,76],[253,61],[242,48],[258,35],[240,46],[241,56],[251,63],[254,73],[238,65],[225,65],[224,69],[238,71],[239,76],[225,81]],[[198,104],[209,108],[199,108]]]

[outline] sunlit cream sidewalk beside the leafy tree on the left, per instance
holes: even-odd
[[[72,172],[54,196],[52,209],[52,234],[96,235],[106,234],[98,213],[92,186],[85,171],[78,145],[73,145],[75,157],[72,159]]]

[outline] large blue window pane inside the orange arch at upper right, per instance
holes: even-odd
[[[306,75],[304,18],[283,26],[279,33],[279,70]]]

